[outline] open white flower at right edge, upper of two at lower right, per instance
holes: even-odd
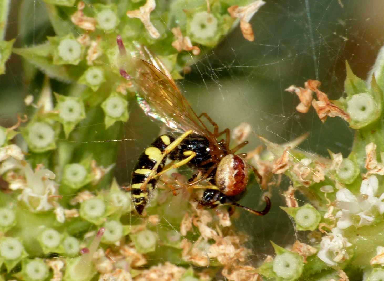
[[[372,207],[377,207],[379,213],[384,213],[384,193],[379,197],[374,195],[379,188],[379,180],[376,176],[364,179],[360,187],[360,195],[357,197],[347,188],[341,188],[336,192],[336,206],[341,210],[336,213],[339,218],[337,227],[341,229],[348,228],[353,225],[353,215],[360,217],[358,226],[369,225],[374,221]]]

